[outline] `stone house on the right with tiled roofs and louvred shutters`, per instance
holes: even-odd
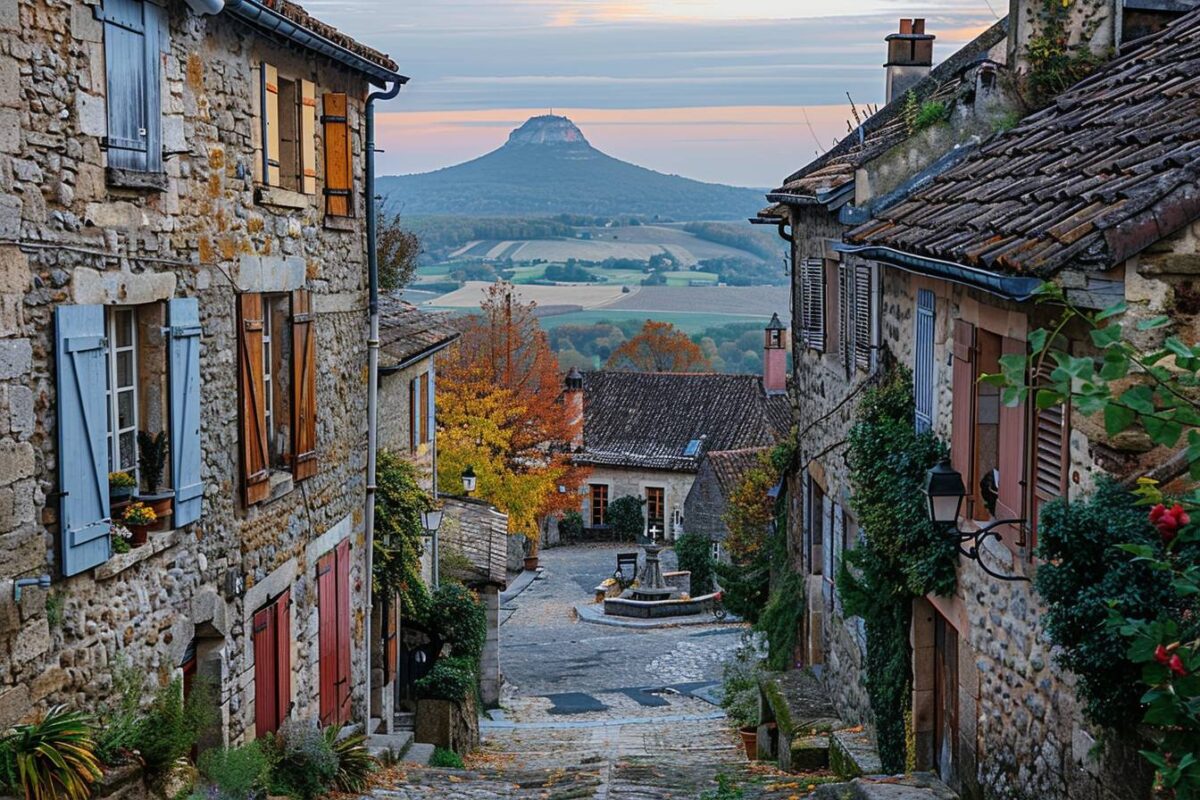
[[[1048,500],[1082,497],[1099,474],[1140,474],[1169,453],[1109,440],[1103,426],[1062,408],[1002,405],[977,379],[997,372],[1001,355],[1025,353],[1028,331],[1056,317],[1031,300],[1046,278],[1081,307],[1124,299],[1135,319],[1168,313],[1192,330],[1194,306],[1181,299],[1198,258],[1200,17],[1153,32],[1175,13],[1098,4],[1091,43],[1116,58],[992,134],[988,120],[1012,108],[1002,78],[1022,65],[1026,6],[1014,2],[1009,20],[912,85],[918,98],[947,100],[946,124],[913,131],[899,122],[905,101],[894,97],[772,193],[762,215],[791,237],[797,265],[794,385],[805,389],[790,548],[793,569],[810,576],[798,655],[822,672],[839,712],[871,722],[865,639],[833,588],[858,540],[840,443],[883,362],[905,365],[913,425],[949,445],[965,479],[959,527],[1024,521],[988,540],[980,560],[960,561],[954,596],[914,603],[917,768],[971,798],[1141,798],[1144,764],[1099,739],[1074,676],[1055,663],[1039,627],[1045,602],[1030,583],[995,576],[1036,572]],[[920,52],[920,36],[901,23],[908,53]],[[1086,332],[1066,335],[1076,355],[1094,353]]]

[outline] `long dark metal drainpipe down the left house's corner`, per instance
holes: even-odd
[[[391,88],[383,91],[373,91],[367,95],[366,124],[367,124],[367,175],[366,190],[367,201],[365,212],[367,215],[367,285],[368,285],[368,312],[371,315],[370,332],[367,333],[367,499],[366,499],[366,567],[367,567],[367,630],[366,630],[366,718],[364,730],[371,734],[371,620],[374,616],[374,587],[373,587],[373,563],[374,563],[374,495],[376,495],[376,452],[378,449],[378,417],[379,417],[379,260],[376,252],[376,205],[374,205],[374,102],[377,100],[391,100],[400,94],[402,83],[395,82]],[[386,723],[385,720],[380,722]]]

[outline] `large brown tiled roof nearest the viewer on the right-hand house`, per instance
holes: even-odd
[[[847,239],[994,272],[1104,270],[1200,217],[1200,12]]]

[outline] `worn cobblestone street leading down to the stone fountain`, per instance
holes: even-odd
[[[582,622],[574,606],[628,547],[545,551],[545,571],[502,607],[503,709],[484,720],[468,769],[413,769],[380,800],[432,798],[686,799],[744,776],[740,744],[721,709],[703,699],[719,685],[742,625],[626,628]],[[666,553],[664,567],[674,566]],[[787,798],[794,783],[763,787]]]

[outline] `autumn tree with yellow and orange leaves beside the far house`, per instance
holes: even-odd
[[[570,463],[582,420],[569,420],[558,360],[533,311],[497,281],[480,313],[456,320],[462,338],[438,360],[438,482],[452,492],[470,467],[474,497],[536,548],[539,521],[577,507],[587,470]]]

